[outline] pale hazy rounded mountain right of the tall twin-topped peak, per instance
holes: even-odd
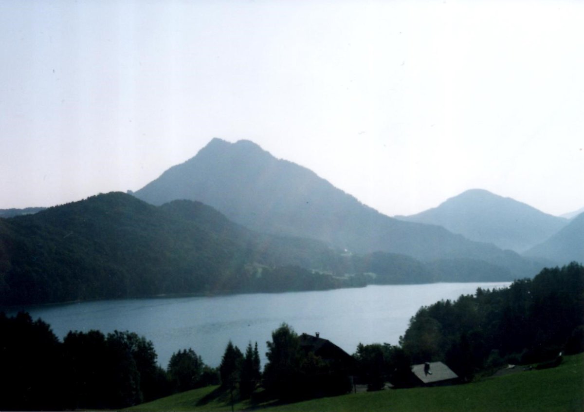
[[[437,224],[471,240],[516,252],[543,242],[568,223],[561,217],[482,189],[463,192],[438,207],[399,219]]]

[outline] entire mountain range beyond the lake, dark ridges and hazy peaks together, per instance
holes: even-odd
[[[0,217],[0,306],[512,281],[584,261],[584,214],[475,189],[394,219],[245,140],[214,139],[132,194]]]

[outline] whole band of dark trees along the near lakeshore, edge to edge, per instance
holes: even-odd
[[[411,365],[430,361],[465,381],[505,363],[546,365],[561,351],[584,351],[584,266],[544,269],[507,289],[422,307],[399,345],[359,344],[348,363],[302,342],[287,324],[273,331],[263,373],[251,342],[245,353],[229,342],[216,369],[193,349],[162,369],[152,342],[134,333],[70,332],[60,342],[40,319],[0,313],[0,410],[121,408],[219,383],[213,394],[226,402],[290,401],[349,392],[350,377],[370,390],[411,386]]]

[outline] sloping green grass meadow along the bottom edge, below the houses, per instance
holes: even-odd
[[[131,411],[230,411],[226,400],[201,400],[215,387],[191,390],[128,408]],[[197,404],[199,404],[197,406]],[[565,356],[554,369],[526,371],[487,378],[467,385],[384,390],[347,394],[304,402],[252,406],[236,403],[235,410],[280,411],[584,411],[584,354]]]

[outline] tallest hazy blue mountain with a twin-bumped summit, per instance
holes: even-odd
[[[253,230],[310,237],[353,252],[385,251],[420,259],[471,258],[537,273],[519,255],[467,240],[443,227],[393,219],[314,172],[274,158],[251,141],[213,139],[183,164],[134,193],[154,205],[199,200]],[[533,271],[533,273],[532,273]]]

